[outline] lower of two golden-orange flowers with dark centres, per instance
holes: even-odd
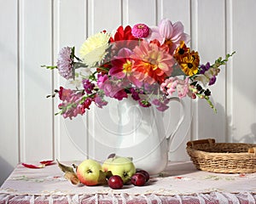
[[[200,59],[198,53],[192,51],[190,54],[187,54],[182,59],[180,59],[179,65],[186,75],[193,76],[198,72],[199,62]]]

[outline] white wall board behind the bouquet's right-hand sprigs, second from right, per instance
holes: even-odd
[[[196,16],[195,24],[197,37],[192,42],[196,45],[201,56],[201,64],[207,61],[214,62],[219,56],[225,55],[225,5],[224,1],[194,1],[194,10],[192,14]],[[196,7],[195,7],[196,6]],[[214,114],[212,109],[204,100],[198,100],[195,111],[198,116],[194,117],[194,121],[198,127],[198,138],[216,138],[218,141],[225,139],[225,67],[221,67],[222,71],[218,74],[218,81],[211,87],[212,102],[216,106],[218,112]]]

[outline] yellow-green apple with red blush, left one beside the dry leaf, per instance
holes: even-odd
[[[102,165],[95,160],[84,160],[77,168],[79,181],[85,185],[96,185],[102,171]]]

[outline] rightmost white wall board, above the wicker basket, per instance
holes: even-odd
[[[232,142],[256,142],[256,69],[253,63],[256,46],[256,2],[253,0],[231,1],[231,33],[232,48],[236,50],[232,71],[230,74],[229,90],[230,139]]]

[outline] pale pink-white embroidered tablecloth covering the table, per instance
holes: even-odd
[[[61,161],[62,162],[62,161]],[[67,165],[79,161],[62,162]],[[0,203],[256,203],[256,173],[198,171],[190,161],[170,162],[160,177],[137,187],[73,185],[57,164],[40,169],[18,165],[0,189]]]

